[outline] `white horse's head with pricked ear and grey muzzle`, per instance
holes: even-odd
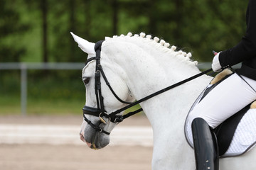
[[[107,62],[107,57],[104,52],[102,52],[100,57],[100,66],[104,69],[105,77],[108,83],[111,84],[114,94],[118,97],[113,95],[113,91],[107,86],[106,79],[104,79],[102,74],[96,81],[95,75],[100,71],[96,68],[95,43],[88,42],[73,33],[71,34],[74,40],[78,42],[78,47],[88,54],[87,63],[82,69],[82,81],[86,88],[86,103],[83,108],[84,120],[81,126],[80,139],[86,142],[88,147],[100,149],[110,143],[110,132],[114,126],[117,125],[117,122],[111,120],[108,114],[117,110],[117,108],[122,108],[127,105],[126,102],[122,103],[118,101],[117,98],[127,102],[134,101],[134,98],[126,84],[125,79],[127,79],[127,77],[122,68],[111,62]],[[97,91],[97,87],[99,86],[100,94],[98,93],[99,91]],[[102,112],[104,113],[102,114]]]

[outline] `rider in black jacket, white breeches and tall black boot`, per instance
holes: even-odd
[[[197,170],[218,169],[218,145],[213,129],[256,100],[256,0],[249,1],[246,24],[246,33],[238,45],[216,52],[212,63],[214,72],[239,62],[242,67],[215,86],[188,117]]]

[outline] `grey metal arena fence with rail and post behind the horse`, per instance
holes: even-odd
[[[21,114],[26,115],[27,107],[27,80],[28,80],[28,69],[51,69],[51,70],[71,70],[71,69],[80,69],[85,66],[85,63],[70,63],[70,62],[3,62],[0,63],[0,72],[1,70],[21,70]],[[209,69],[211,67],[210,62],[202,62],[198,64],[199,69]]]

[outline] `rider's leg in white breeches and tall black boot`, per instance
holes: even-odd
[[[244,77],[256,89],[256,81]],[[196,166],[202,166],[210,159],[210,166],[218,169],[218,149],[212,128],[237,113],[242,108],[256,100],[256,93],[237,74],[233,74],[216,86],[198,103],[188,115],[188,123],[193,129]],[[210,126],[210,128],[209,128]],[[217,157],[216,157],[217,154]]]

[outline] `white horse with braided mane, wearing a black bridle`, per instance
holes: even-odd
[[[73,37],[88,54],[88,59],[95,56],[95,43],[74,34]],[[126,36],[105,39],[100,62],[114,92],[123,101],[139,100],[200,73],[197,62],[190,59],[191,53],[176,51],[175,46],[169,48],[169,43],[164,40],[158,42],[159,38],[152,39],[151,35],[141,33],[132,36],[132,33],[128,33]],[[85,105],[96,108],[95,60],[82,69],[82,79],[86,86]],[[189,109],[211,79],[203,75],[140,104],[154,132],[152,169],[196,169],[193,149],[186,142],[183,128]],[[102,77],[101,80],[105,111],[112,113],[126,106],[117,101]],[[112,122],[100,123],[100,119],[93,115],[87,115],[87,119],[107,132],[111,132],[116,125]],[[85,121],[80,138],[95,149],[105,147],[110,142],[110,135],[95,131]],[[256,169],[255,157],[256,149],[252,149],[240,157],[220,159],[220,170]]]

